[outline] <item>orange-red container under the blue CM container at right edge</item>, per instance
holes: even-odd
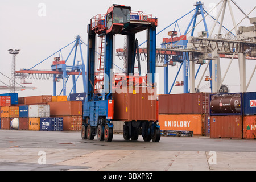
[[[243,117],[243,138],[256,139],[256,115]]]

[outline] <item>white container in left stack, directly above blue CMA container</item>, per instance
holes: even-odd
[[[50,106],[49,105],[29,105],[28,117],[29,118],[50,117]]]

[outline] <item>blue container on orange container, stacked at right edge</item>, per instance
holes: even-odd
[[[256,92],[243,93],[243,138],[256,139]]]

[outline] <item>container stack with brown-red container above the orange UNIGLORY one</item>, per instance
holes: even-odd
[[[159,95],[162,134],[209,135],[209,100],[210,93]]]

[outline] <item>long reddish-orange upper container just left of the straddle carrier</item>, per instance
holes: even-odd
[[[51,117],[59,115],[82,115],[82,101],[48,102]]]

